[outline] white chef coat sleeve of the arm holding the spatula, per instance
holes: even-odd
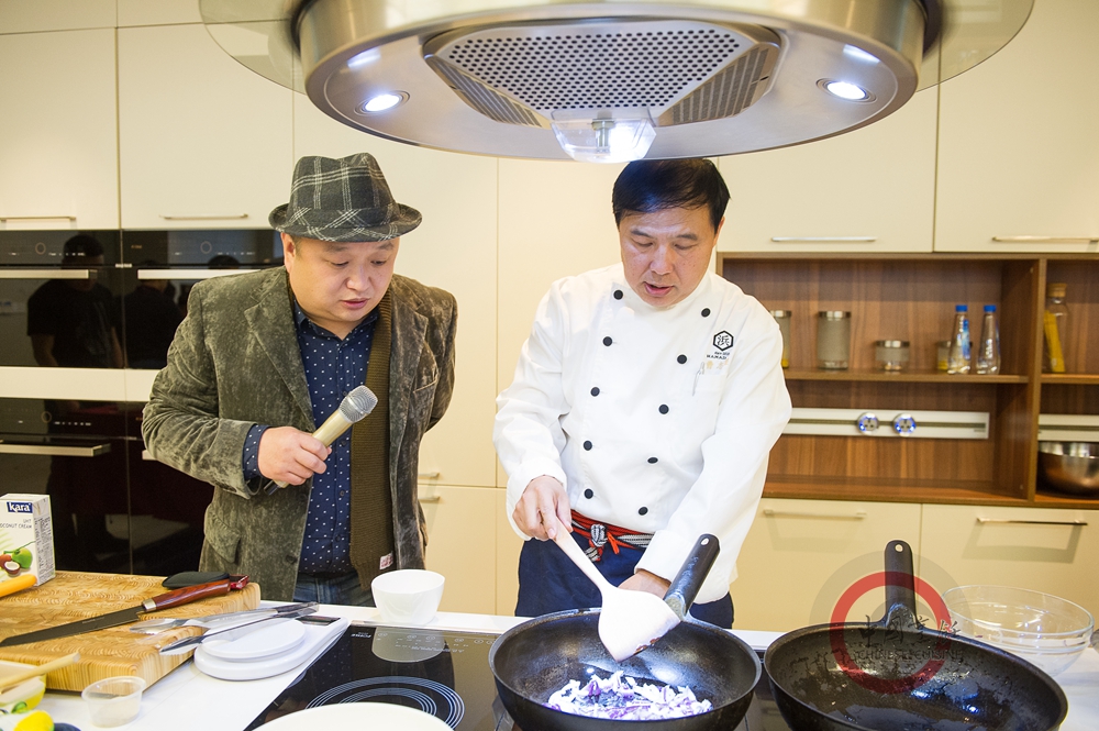
[[[511,386],[496,400],[492,442],[508,473],[508,521],[524,540],[530,536],[519,530],[511,514],[531,480],[547,475],[568,487],[560,466],[565,448],[560,417],[568,412],[562,383],[567,333],[568,313],[556,283],[539,304]]]

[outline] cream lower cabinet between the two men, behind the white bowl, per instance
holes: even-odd
[[[440,611],[496,613],[496,488],[420,485],[426,566],[446,577]]]

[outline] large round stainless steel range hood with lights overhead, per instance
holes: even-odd
[[[972,68],[1033,0],[200,0],[325,114],[481,155],[731,155],[856,130]]]

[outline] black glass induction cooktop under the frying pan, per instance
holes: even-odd
[[[496,693],[488,653],[497,635],[353,623],[247,727],[331,704],[408,706],[454,731],[520,729]],[[788,731],[763,678],[735,731]]]

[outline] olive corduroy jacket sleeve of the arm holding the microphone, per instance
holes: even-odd
[[[153,380],[142,435],[158,462],[248,498],[263,481],[246,483],[241,464],[254,422],[219,418],[218,375],[208,346],[202,291],[191,290],[187,317],[168,348],[168,365]]]

